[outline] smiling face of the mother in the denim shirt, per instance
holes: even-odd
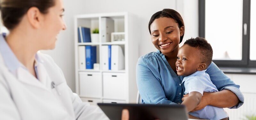
[[[158,18],[150,26],[152,43],[163,54],[179,49],[180,36],[184,27],[178,26],[172,18]]]

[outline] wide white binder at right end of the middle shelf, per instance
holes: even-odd
[[[111,45],[111,70],[124,69],[124,54],[121,46]]]

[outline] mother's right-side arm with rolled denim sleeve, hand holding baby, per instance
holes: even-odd
[[[204,92],[201,102],[193,111],[202,109],[207,105],[219,108],[239,108],[243,105],[244,96],[239,90],[240,86],[230,80],[213,62],[207,68],[206,73],[209,74],[212,83],[219,92]],[[184,97],[182,100],[186,99],[187,96]]]

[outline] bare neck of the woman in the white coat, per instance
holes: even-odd
[[[35,55],[38,51],[33,45],[33,37],[23,34],[22,32],[12,31],[6,36],[6,42],[17,59],[31,71],[34,68]]]

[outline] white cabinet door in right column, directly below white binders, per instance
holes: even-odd
[[[127,84],[124,73],[103,73],[103,98],[126,100]]]

